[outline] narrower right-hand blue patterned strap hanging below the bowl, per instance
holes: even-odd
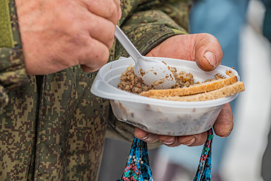
[[[211,161],[212,161],[212,141],[213,141],[213,129],[208,130],[208,137],[204,144],[202,155],[199,163],[197,173],[194,181],[207,181],[211,180]]]

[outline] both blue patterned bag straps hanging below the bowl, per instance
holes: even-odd
[[[208,138],[204,144],[199,167],[194,181],[211,180],[211,147],[213,141],[213,130],[208,130]],[[118,181],[153,181],[149,165],[149,153],[147,143],[134,138],[130,155],[122,178]]]

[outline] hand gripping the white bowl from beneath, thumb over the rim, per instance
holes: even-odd
[[[176,35],[153,48],[146,56],[168,57],[196,61],[205,70],[215,69],[222,60],[222,49],[218,40],[206,33]],[[216,135],[227,137],[233,129],[233,117],[230,104],[225,104],[213,126]],[[199,146],[206,142],[207,132],[189,136],[165,136],[147,133],[135,128],[134,135],[145,142],[161,141],[169,147]]]

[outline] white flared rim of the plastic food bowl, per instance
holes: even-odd
[[[153,57],[157,60],[162,59],[172,59],[172,58],[163,58],[163,57]],[[140,103],[140,104],[148,104],[148,105],[154,105],[154,106],[162,106],[162,107],[172,107],[172,108],[209,108],[209,107],[215,107],[215,106],[221,106],[226,103],[231,102],[234,100],[238,93],[229,97],[220,98],[216,100],[210,100],[210,101],[197,101],[197,102],[180,102],[180,101],[168,101],[168,100],[159,100],[154,98],[148,98],[144,96],[139,96],[136,94],[128,93],[125,91],[120,90],[119,88],[111,85],[109,82],[105,80],[106,73],[109,71],[108,68],[111,68],[113,64],[116,63],[122,63],[124,61],[127,61],[131,58],[122,58],[119,60],[115,60],[112,62],[109,62],[105,64],[97,73],[97,76],[93,82],[93,85],[91,87],[91,92],[95,96],[109,99],[109,100],[116,100],[116,101],[125,101],[125,102],[131,102],[131,103]],[[188,61],[188,60],[180,60],[180,59],[173,59],[178,61],[186,61],[186,63],[192,63],[196,64],[194,61]],[[126,62],[127,64],[127,62]],[[129,66],[130,64],[128,64]],[[237,79],[239,80],[239,75],[236,70],[224,66],[219,65],[216,69],[218,70],[232,70],[235,75],[237,76]]]

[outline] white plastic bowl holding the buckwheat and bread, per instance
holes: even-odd
[[[226,70],[233,71],[238,80],[240,79],[238,73],[227,66],[219,65],[215,70],[206,72],[193,61],[155,58],[176,67],[177,72],[185,70],[192,73],[195,82],[214,78],[217,73],[229,77],[225,73]],[[113,113],[118,120],[147,132],[174,136],[205,132],[214,125],[222,106],[234,100],[238,95],[211,101],[177,102],[147,98],[118,89],[121,73],[128,66],[133,65],[134,61],[131,58],[107,63],[99,70],[91,92],[98,97],[110,100]]]

